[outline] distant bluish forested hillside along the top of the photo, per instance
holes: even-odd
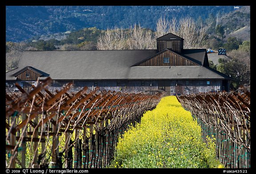
[[[20,42],[89,27],[106,30],[140,24],[155,30],[163,15],[178,19],[191,16],[205,22],[209,16],[233,10],[233,6],[6,6],[6,41]]]

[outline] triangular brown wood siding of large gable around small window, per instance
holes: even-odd
[[[164,63],[164,57],[169,57],[170,62]],[[166,50],[148,60],[141,62],[136,66],[198,66],[196,63],[173,53],[172,51]]]

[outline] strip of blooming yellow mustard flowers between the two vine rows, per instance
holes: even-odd
[[[108,167],[217,168],[214,139],[204,143],[200,125],[175,96],[161,99],[140,123],[124,132]]]

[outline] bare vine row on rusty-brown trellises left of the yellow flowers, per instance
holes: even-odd
[[[114,157],[118,138],[160,93],[48,90],[51,77],[30,92],[6,92],[6,168],[103,168]],[[8,91],[8,90],[6,90]]]

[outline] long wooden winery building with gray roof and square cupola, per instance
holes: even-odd
[[[184,49],[184,39],[168,33],[156,50],[23,51],[18,68],[6,73],[6,85],[25,90],[50,76],[50,90],[73,81],[122,92],[166,91],[169,95],[228,91],[231,77],[209,67],[206,49]]]

